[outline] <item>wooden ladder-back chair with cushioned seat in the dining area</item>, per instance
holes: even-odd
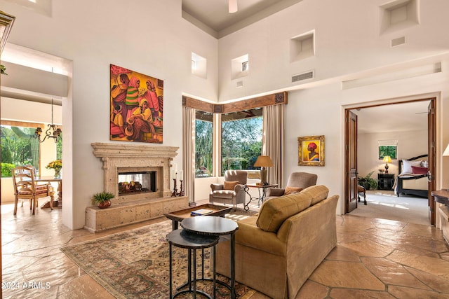
[[[50,207],[53,210],[53,187],[50,183],[38,185],[35,179],[34,167],[18,166],[12,171],[14,184],[14,215],[17,214],[17,205],[19,200],[29,200],[29,209],[32,209],[33,215],[38,206],[38,199],[41,197],[50,197]]]

